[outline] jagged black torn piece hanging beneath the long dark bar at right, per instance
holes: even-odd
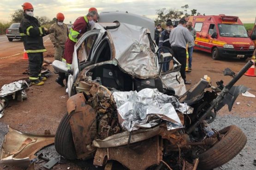
[[[224,99],[218,104],[216,111],[219,111],[223,106],[227,105],[228,110],[231,111],[234,102],[240,93],[245,93],[248,90],[244,85],[233,86]]]

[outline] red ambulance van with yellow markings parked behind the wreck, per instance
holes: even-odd
[[[214,60],[251,57],[254,43],[238,17],[220,15],[190,16],[187,19],[196,30],[194,49],[211,53]]]

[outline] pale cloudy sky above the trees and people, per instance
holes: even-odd
[[[35,16],[46,16],[50,19],[56,13],[65,15],[64,23],[72,23],[77,17],[88,13],[90,7],[101,11],[128,11],[155,19],[155,10],[161,8],[182,10],[181,6],[189,5],[189,10],[206,15],[225,14],[238,16],[243,23],[254,23],[256,17],[255,0],[0,0],[0,22],[11,21],[11,14],[22,9],[24,2],[34,6]]]

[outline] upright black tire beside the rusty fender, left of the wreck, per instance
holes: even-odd
[[[71,116],[66,113],[61,119],[58,129],[55,134],[54,146],[56,151],[66,159],[77,159],[75,144],[73,141],[71,126]]]

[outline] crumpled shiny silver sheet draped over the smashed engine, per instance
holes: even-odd
[[[149,128],[167,121],[167,130],[182,128],[176,110],[188,114],[190,107],[179,103],[173,96],[165,95],[157,89],[137,91],[119,91],[113,93],[117,105],[119,123],[128,131]]]

